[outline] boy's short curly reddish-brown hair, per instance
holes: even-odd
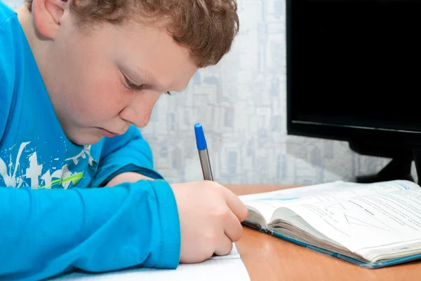
[[[29,11],[32,0],[25,0]],[[63,1],[63,0],[62,0]],[[69,0],[79,27],[125,19],[163,22],[196,67],[217,64],[239,31],[236,0]]]

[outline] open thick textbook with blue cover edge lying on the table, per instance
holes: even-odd
[[[366,268],[421,258],[421,188],[334,181],[240,196],[244,225]]]

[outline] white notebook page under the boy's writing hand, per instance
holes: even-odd
[[[230,254],[213,256],[202,263],[182,263],[177,269],[133,268],[112,273],[69,273],[55,277],[55,281],[250,281],[246,266],[233,244]]]

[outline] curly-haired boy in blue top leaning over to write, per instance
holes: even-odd
[[[0,2],[1,280],[230,252],[246,207],[213,181],[168,184],[138,128],[237,25],[233,0]]]

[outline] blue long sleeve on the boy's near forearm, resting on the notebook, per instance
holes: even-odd
[[[163,180],[112,188],[0,188],[0,279],[40,280],[73,268],[176,268],[180,224]]]

